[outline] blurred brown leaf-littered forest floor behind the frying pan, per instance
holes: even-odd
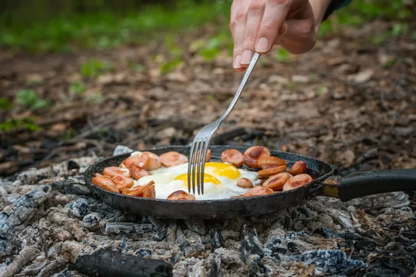
[[[108,157],[119,144],[190,143],[223,114],[243,77],[229,50],[211,59],[198,52],[214,33],[205,26],[112,51],[1,51],[1,96],[17,104],[0,103],[0,175]],[[262,56],[214,142],[304,154],[341,175],[415,168],[415,92],[415,37],[390,21],[343,28],[304,55],[276,47]]]

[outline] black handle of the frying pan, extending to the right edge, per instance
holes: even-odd
[[[358,172],[347,177],[329,177],[322,195],[341,201],[378,193],[416,190],[416,168]]]

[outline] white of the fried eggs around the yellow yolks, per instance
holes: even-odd
[[[260,180],[257,177],[257,172],[251,172],[237,168],[240,172],[240,176],[237,179],[230,179],[228,177],[211,174],[220,181],[220,185],[213,183],[204,183],[204,194],[198,195],[196,193],[196,200],[207,199],[229,199],[230,197],[238,196],[245,193],[248,188],[240,188],[237,186],[237,181],[241,178],[247,178],[252,181],[254,186],[259,184]],[[188,188],[185,187],[184,181],[175,180],[179,175],[188,172],[188,163],[183,163],[179,166],[172,166],[170,168],[159,168],[157,170],[150,171],[150,175],[141,177],[138,181],[135,180],[135,186],[143,186],[150,181],[155,182],[155,197],[157,199],[166,199],[171,193],[176,190],[184,190],[188,192]]]

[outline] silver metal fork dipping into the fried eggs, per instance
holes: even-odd
[[[220,124],[223,123],[223,120],[225,119],[225,117],[227,117],[229,112],[234,108],[237,100],[239,100],[241,91],[243,91],[245,87],[245,83],[250,77],[250,74],[252,73],[254,66],[257,63],[257,60],[259,60],[259,57],[260,57],[259,53],[254,53],[252,60],[250,64],[248,65],[247,71],[245,71],[243,80],[241,80],[239,89],[237,89],[236,95],[232,99],[231,104],[229,104],[223,116],[218,118],[218,120],[214,121],[213,123],[200,129],[198,134],[196,134],[195,138],[193,139],[193,142],[191,145],[191,152],[189,153],[189,163],[188,163],[188,191],[189,193],[191,193],[191,186],[192,186],[193,194],[195,194],[195,181],[197,181],[198,195],[200,193],[202,193],[202,195],[204,194],[205,158],[207,157],[209,141],[211,140],[212,135],[216,132],[218,127],[220,127]],[[197,168],[197,164],[198,164],[198,168]],[[192,184],[191,184],[191,180],[192,180]]]

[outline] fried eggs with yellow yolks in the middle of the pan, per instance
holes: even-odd
[[[166,199],[176,190],[188,192],[188,163],[170,168],[159,168],[150,171],[150,175],[135,181],[135,186],[143,186],[150,181],[155,182],[156,198]],[[228,199],[245,193],[248,188],[240,188],[237,181],[247,178],[254,186],[259,184],[257,172],[239,169],[228,163],[205,163],[204,194],[195,194],[196,200]]]

